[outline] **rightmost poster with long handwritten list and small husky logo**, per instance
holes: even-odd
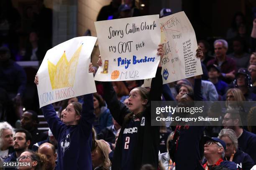
[[[163,84],[202,75],[200,59],[196,57],[197,39],[186,14],[182,11],[159,19],[164,57],[161,61]],[[144,80],[145,87],[151,79]]]

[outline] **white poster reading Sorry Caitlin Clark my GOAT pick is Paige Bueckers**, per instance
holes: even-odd
[[[102,66],[98,81],[141,80],[152,78],[160,57],[159,15],[148,15],[95,22]]]

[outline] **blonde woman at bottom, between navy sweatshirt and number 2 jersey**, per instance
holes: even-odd
[[[104,140],[96,140],[97,147],[92,151],[93,170],[110,170],[111,162],[108,158],[108,144]]]

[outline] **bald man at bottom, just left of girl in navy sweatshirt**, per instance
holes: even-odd
[[[43,143],[38,148],[38,153],[45,155],[47,158],[46,163],[46,170],[54,170],[57,160],[57,153],[55,150],[54,145],[51,145],[51,143]]]

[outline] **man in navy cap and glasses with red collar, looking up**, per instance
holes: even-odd
[[[204,155],[207,160],[203,164],[205,170],[211,170],[212,167],[218,165],[229,168],[230,170],[236,170],[235,163],[224,160],[226,144],[223,140],[204,136],[204,141]]]

